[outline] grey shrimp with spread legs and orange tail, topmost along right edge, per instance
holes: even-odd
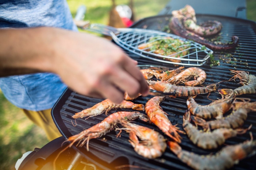
[[[230,94],[232,92],[234,92],[235,95],[256,93],[256,77],[254,75],[249,75],[249,72],[237,70],[231,70],[231,73],[235,74],[232,78],[239,78],[240,84],[242,84],[243,86],[238,87],[235,90],[221,89],[219,90],[221,94]],[[232,78],[230,78],[230,80]]]

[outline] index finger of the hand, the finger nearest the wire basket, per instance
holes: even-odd
[[[140,69],[132,63],[132,59],[126,55],[124,57],[124,61],[123,61],[122,65],[123,65],[124,69],[129,74],[131,74],[132,77],[136,78],[137,81],[139,82],[139,84],[140,84],[139,92],[144,96],[148,95],[148,84],[147,84],[146,80],[144,79],[142,73],[140,72]]]

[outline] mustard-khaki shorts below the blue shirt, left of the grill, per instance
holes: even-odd
[[[44,130],[49,141],[62,136],[52,120],[51,109],[42,111],[21,110],[32,122]]]

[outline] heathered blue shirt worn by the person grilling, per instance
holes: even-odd
[[[77,31],[65,0],[0,0],[0,28],[38,26]],[[12,104],[34,111],[52,108],[66,87],[52,73],[0,78],[0,88]]]

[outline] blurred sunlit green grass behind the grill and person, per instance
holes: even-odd
[[[169,0],[134,1],[135,19],[156,15]],[[116,0],[116,4],[128,4],[129,0]],[[68,0],[73,16],[80,5],[86,5],[84,20],[91,23],[108,23],[111,0]],[[247,18],[256,21],[256,0],[247,0]],[[0,169],[14,170],[23,153],[41,148],[48,143],[44,132],[36,127],[21,110],[7,101],[0,90]]]

